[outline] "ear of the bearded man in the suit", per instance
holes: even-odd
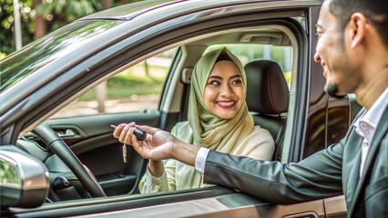
[[[349,21],[352,48],[362,43],[362,39],[366,31],[365,25],[366,18],[364,15],[362,15],[361,13],[352,14],[351,20]]]

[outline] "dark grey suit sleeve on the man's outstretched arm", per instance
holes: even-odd
[[[298,203],[342,194],[343,144],[300,163],[258,161],[210,151],[204,183],[236,188],[271,203]]]

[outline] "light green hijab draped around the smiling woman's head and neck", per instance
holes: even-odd
[[[204,102],[205,86],[214,65],[220,60],[230,60],[237,65],[246,93],[245,71],[236,55],[230,53],[225,47],[205,54],[194,66],[191,75],[189,125],[182,125],[182,128],[174,131],[173,134],[180,140],[190,144],[196,144],[222,153],[235,154],[238,145],[252,132],[253,118],[245,103],[245,96],[240,110],[233,118],[228,120],[211,114],[206,108]]]

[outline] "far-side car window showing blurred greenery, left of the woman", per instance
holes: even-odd
[[[81,95],[52,117],[157,109],[168,69],[177,51],[174,48],[129,67]]]

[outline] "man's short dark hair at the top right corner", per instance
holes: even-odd
[[[343,31],[353,13],[359,12],[376,28],[388,49],[388,0],[328,0],[329,10]]]

